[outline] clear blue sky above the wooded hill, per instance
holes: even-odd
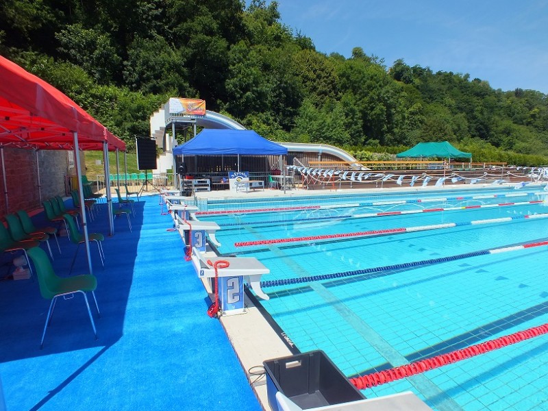
[[[270,3],[270,1],[267,1]],[[548,0],[277,0],[281,21],[317,51],[354,47],[503,91],[548,94]]]

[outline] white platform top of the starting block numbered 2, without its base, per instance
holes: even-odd
[[[233,277],[242,275],[245,281],[251,287],[251,290],[262,299],[270,297],[261,289],[260,281],[263,274],[269,274],[270,270],[254,257],[206,257],[199,249],[192,247],[192,265],[200,278],[215,277],[215,269],[208,264],[210,260],[213,264],[219,260],[225,260],[229,263],[226,269],[219,269],[219,277]]]

